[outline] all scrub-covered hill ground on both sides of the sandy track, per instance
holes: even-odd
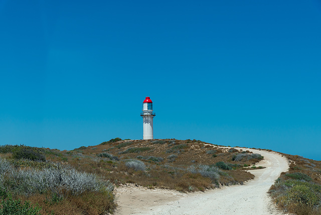
[[[292,164],[271,196],[283,210],[318,214],[321,163],[284,156]],[[260,154],[199,140],[115,138],[71,151],[6,145],[0,157],[0,214],[108,214],[116,207],[112,190],[119,184],[204,191],[243,184],[254,178],[247,168],[263,168],[255,165]],[[310,213],[298,211],[302,205]]]

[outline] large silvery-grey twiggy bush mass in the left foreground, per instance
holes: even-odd
[[[0,163],[5,163],[1,160]],[[0,165],[5,166],[5,165]],[[0,187],[7,187],[18,195],[45,193],[50,191],[61,196],[70,192],[73,195],[84,191],[109,192],[113,186],[109,181],[102,181],[94,174],[78,172],[71,167],[29,168],[9,167],[10,171],[0,177]]]

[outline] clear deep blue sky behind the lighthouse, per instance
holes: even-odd
[[[0,144],[154,138],[321,160],[321,1],[0,0]]]

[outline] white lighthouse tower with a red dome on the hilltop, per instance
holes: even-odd
[[[146,97],[142,102],[142,112],[140,116],[143,119],[143,140],[153,139],[152,134],[152,119],[155,117],[155,113],[152,112],[152,101],[149,97]]]

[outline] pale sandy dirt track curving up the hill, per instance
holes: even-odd
[[[255,179],[244,185],[188,194],[123,186],[116,189],[119,205],[116,214],[281,214],[274,208],[267,191],[280,173],[287,171],[286,158],[274,152],[245,150],[264,156],[257,166],[266,168],[250,170]]]

